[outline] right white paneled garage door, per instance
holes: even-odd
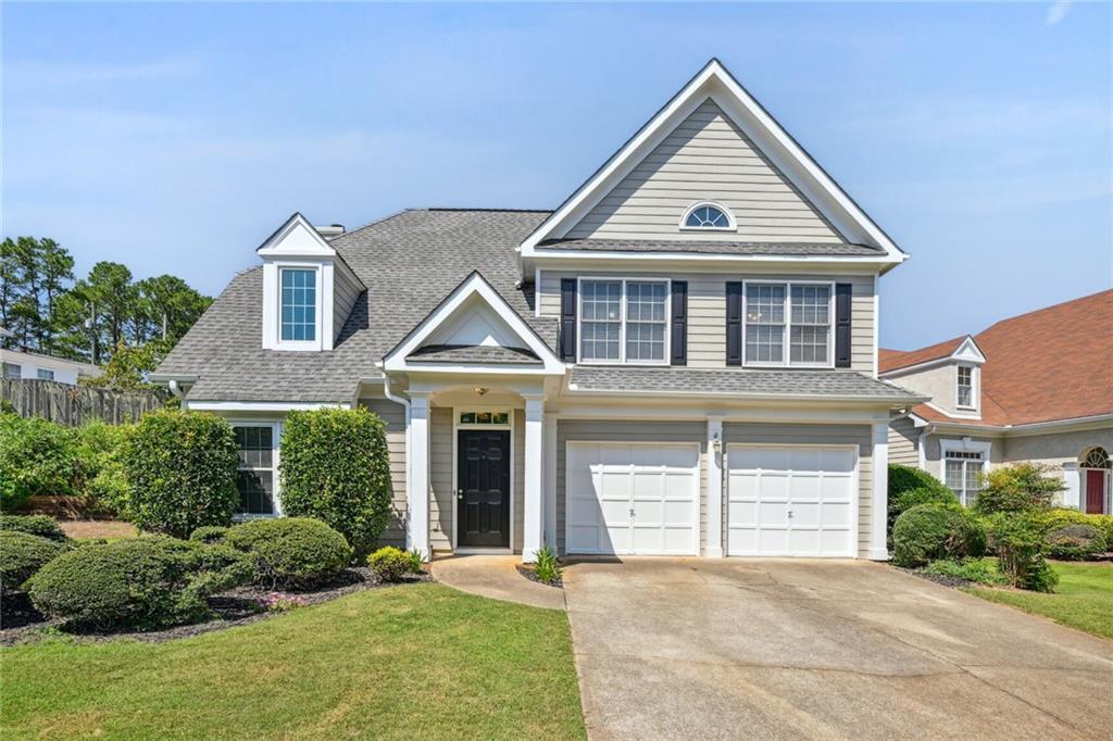
[[[727,476],[729,555],[857,554],[856,448],[731,445]]]

